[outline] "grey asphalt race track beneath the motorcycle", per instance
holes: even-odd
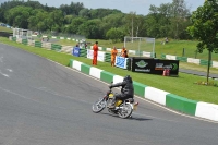
[[[147,100],[132,119],[92,102],[108,84],[0,44],[0,145],[216,145],[218,124]]]

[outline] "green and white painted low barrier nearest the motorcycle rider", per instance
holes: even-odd
[[[118,83],[123,80],[122,76],[106,72],[92,65],[84,64],[73,59],[70,60],[70,67],[106,83]],[[173,95],[150,86],[146,86],[137,82],[133,82],[133,85],[135,89],[135,95],[140,97],[153,100],[157,104],[160,104],[162,106],[166,106],[167,108],[173,109],[182,113],[218,121],[218,105],[201,101],[198,102],[196,100],[183,98],[181,96]]]

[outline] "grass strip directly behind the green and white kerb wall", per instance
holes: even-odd
[[[23,50],[36,53],[36,55],[39,55],[50,60],[57,61],[63,65],[69,65],[70,59],[74,59],[89,65],[92,64],[90,59],[77,58],[71,55],[66,55],[66,53],[60,53],[60,52],[56,52],[51,50],[46,50],[44,48],[29,47],[22,44],[16,44],[14,41],[10,41],[8,38],[2,38],[2,37],[0,37],[0,41],[21,48]],[[133,72],[122,70],[119,68],[111,68],[109,63],[105,63],[105,62],[98,62],[97,68],[111,72],[113,74],[121,75],[121,76],[130,74],[133,77],[133,80],[136,82],[143,83],[145,85],[156,87],[156,88],[159,88],[172,94],[177,94],[185,98],[218,104],[218,97],[217,97],[218,87],[194,84],[195,82],[206,81],[205,77],[185,74],[185,73],[179,73],[179,77],[166,77],[161,75],[133,73]],[[218,84],[218,81],[210,80],[210,82],[215,82]]]

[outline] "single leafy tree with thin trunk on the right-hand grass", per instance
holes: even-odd
[[[211,52],[218,53],[218,1],[205,1],[203,7],[193,12],[191,21],[193,25],[187,27],[187,32],[192,37],[199,40],[197,45],[198,52],[203,52],[204,49],[208,50],[208,84]]]

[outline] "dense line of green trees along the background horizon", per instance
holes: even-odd
[[[87,9],[81,2],[43,5],[38,1],[7,1],[0,5],[0,22],[38,32],[84,35],[89,39],[122,41],[124,36],[191,39],[191,10],[184,0],[150,5],[147,15],[117,9]]]

